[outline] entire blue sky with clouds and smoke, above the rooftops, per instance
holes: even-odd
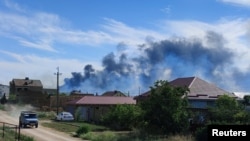
[[[197,76],[250,91],[249,0],[2,0],[0,83],[130,95]]]

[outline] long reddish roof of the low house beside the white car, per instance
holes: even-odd
[[[117,96],[84,96],[81,99],[68,102],[69,105],[116,105],[136,104],[132,97]]]

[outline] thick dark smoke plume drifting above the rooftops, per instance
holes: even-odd
[[[203,41],[203,42],[202,42]],[[207,32],[204,39],[175,38],[146,42],[138,46],[139,55],[110,53],[102,60],[102,70],[91,64],[83,72],[72,72],[62,90],[103,93],[110,90],[137,95],[138,88],[147,91],[156,80],[172,80],[197,74],[211,80],[221,80],[218,72],[225,72],[234,53],[224,47],[225,40],[215,32]],[[128,57],[130,56],[130,57]],[[133,56],[133,57],[131,57]],[[164,76],[164,72],[169,75]]]

